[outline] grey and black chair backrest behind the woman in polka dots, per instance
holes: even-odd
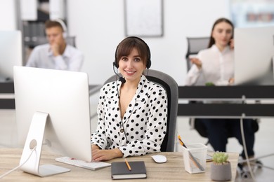
[[[173,152],[176,139],[176,120],[178,111],[178,84],[166,73],[153,69],[146,69],[145,76],[148,80],[164,87],[168,98],[167,134],[161,146],[162,152]],[[117,80],[117,75],[108,78],[105,83]]]

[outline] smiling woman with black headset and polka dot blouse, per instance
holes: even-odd
[[[141,38],[127,37],[117,46],[113,66],[122,77],[100,90],[98,127],[91,135],[93,160],[160,152],[167,94],[143,75],[150,64],[150,49]]]

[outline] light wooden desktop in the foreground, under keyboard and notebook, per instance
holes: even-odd
[[[4,174],[9,170],[18,166],[22,149],[18,148],[0,148],[0,174]],[[161,153],[167,156],[167,162],[163,164],[155,163],[150,157],[153,154],[127,158],[128,161],[145,161],[147,168],[147,179],[136,179],[131,181],[211,181],[210,179],[210,162],[207,162],[206,172],[201,174],[189,174],[185,172],[183,165],[183,153]],[[67,167],[71,169],[71,172],[64,174],[57,174],[54,176],[48,176],[41,178],[32,174],[27,174],[19,169],[11,174],[8,174],[3,178],[4,181],[112,181],[110,174],[110,167],[98,169],[97,171],[91,171],[80,167],[74,167],[66,165],[60,162],[56,162],[54,159],[59,157],[58,155],[52,155],[49,153],[43,153],[41,155],[41,165],[52,164]],[[237,161],[239,155],[237,153],[229,153],[229,160],[232,167],[232,181],[235,181]],[[124,158],[117,158],[114,161],[124,161]],[[115,180],[119,181],[119,180]],[[121,180],[125,181],[125,180]]]

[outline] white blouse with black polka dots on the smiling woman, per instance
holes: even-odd
[[[141,76],[124,118],[119,111],[121,82],[105,84],[100,90],[98,126],[91,144],[102,149],[119,148],[124,158],[160,152],[167,132],[167,94],[163,87]]]

